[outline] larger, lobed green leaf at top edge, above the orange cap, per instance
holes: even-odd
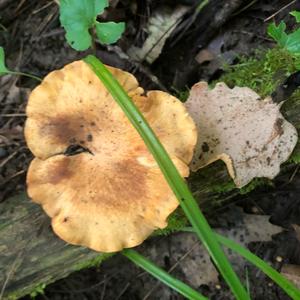
[[[107,6],[108,0],[60,1],[60,22],[66,30],[67,41],[75,50],[83,51],[91,46],[89,29]]]

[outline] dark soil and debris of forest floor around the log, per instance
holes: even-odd
[[[58,6],[54,1],[4,1],[0,0],[0,45],[5,48],[7,65],[11,69],[43,77],[48,72],[61,68],[68,62],[87,54],[72,50],[66,43],[64,31],[59,24]],[[144,27],[151,14],[164,5],[185,4],[194,9],[197,1],[113,1],[114,9],[106,15],[109,20],[124,20],[127,30],[119,47],[97,45],[97,55],[107,64],[126,69],[136,74],[146,89],[167,89],[173,93],[190,87],[202,80],[216,80],[224,72],[224,62],[234,64],[241,54],[252,55],[256,49],[268,48],[274,42],[266,35],[268,22],[264,20],[276,14],[275,20],[285,19],[291,24],[288,12],[300,10],[296,1],[240,1],[234,12],[226,16],[224,24],[211,30],[203,44],[197,44],[197,23],[183,23],[167,40],[161,56],[149,65],[133,62],[120,53],[126,53],[132,45],[142,45],[147,34]],[[223,1],[214,1],[220,10]],[[228,5],[238,1],[228,1]],[[293,3],[291,3],[293,2]],[[247,2],[248,3],[248,2]],[[282,7],[291,5],[280,11]],[[193,10],[194,11],[194,10]],[[218,13],[220,11],[216,11]],[[187,13],[184,20],[191,20]],[[187,24],[191,24],[189,27]],[[209,28],[209,24],[207,23]],[[201,29],[203,30],[203,29]],[[202,32],[202,34],[205,34]],[[181,38],[178,39],[178,36]],[[176,41],[176,42],[175,42]],[[187,44],[188,42],[188,44]],[[205,42],[205,43],[204,43]],[[188,46],[190,45],[190,47]],[[190,48],[190,49],[187,49]],[[201,50],[209,49],[214,58],[196,63],[194,57]],[[200,55],[201,56],[201,55]],[[179,59],[180,58],[180,59]],[[201,58],[201,57],[200,57]],[[201,59],[200,59],[201,60]],[[176,62],[178,61],[178,65]],[[185,66],[185,68],[183,68]],[[153,75],[157,80],[153,80]],[[25,176],[32,154],[23,137],[25,107],[28,93],[38,82],[25,77],[5,76],[0,78],[0,202],[25,190]],[[300,264],[300,243],[294,231],[294,224],[300,225],[300,174],[292,167],[280,176],[274,188],[260,188],[246,196],[239,196],[233,205],[242,206],[245,211],[271,215],[274,224],[284,227],[284,232],[272,242],[251,244],[250,249],[280,269],[283,263]],[[221,226],[220,215],[226,219],[231,207],[214,211],[209,217]],[[215,220],[214,220],[215,219]],[[167,244],[169,251],[161,251]],[[192,247],[192,245],[191,245]],[[186,251],[182,250],[176,235],[153,238],[147,241],[141,251],[148,254],[162,267],[169,269]],[[195,249],[194,251],[197,251]],[[189,254],[192,255],[192,254]],[[276,261],[276,257],[283,261]],[[201,266],[199,266],[201,271]],[[289,299],[257,269],[247,265],[248,280],[253,299]],[[193,285],[193,278],[185,278],[181,264],[173,274]],[[197,276],[197,274],[195,274]],[[259,284],[257,284],[259,283]],[[220,287],[196,286],[212,299],[230,299],[225,284]],[[178,294],[145,274],[124,257],[115,256],[98,268],[82,270],[62,279],[45,289],[38,299],[182,299]]]

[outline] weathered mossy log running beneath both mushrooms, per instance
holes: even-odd
[[[230,85],[252,87],[262,96],[270,94],[278,84],[273,80],[278,68],[287,74],[295,70],[295,61],[289,55],[276,51],[268,52],[258,60],[252,59],[247,64],[242,63],[222,80]],[[257,74],[261,76],[258,78]],[[286,102],[283,113],[300,130],[299,91]],[[298,143],[289,163],[297,163],[299,158]],[[228,177],[225,165],[217,162],[190,176],[188,182],[200,206],[209,212],[237,194],[246,193],[268,181],[254,180],[238,190]],[[175,213],[164,232],[177,230],[185,222],[182,213]],[[39,291],[46,284],[100,263],[107,257],[60,240],[52,232],[50,220],[41,207],[32,203],[25,193],[0,203],[0,299],[16,299]]]

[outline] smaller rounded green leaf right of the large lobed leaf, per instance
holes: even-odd
[[[125,23],[96,22],[96,33],[101,43],[112,44],[115,43],[125,30]]]

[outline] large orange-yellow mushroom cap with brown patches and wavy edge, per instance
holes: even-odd
[[[196,144],[184,105],[161,91],[146,95],[135,77],[108,67],[168,151],[180,174]],[[83,61],[53,71],[27,105],[25,138],[35,155],[28,194],[70,244],[115,252],[142,243],[178,206],[142,138]]]

